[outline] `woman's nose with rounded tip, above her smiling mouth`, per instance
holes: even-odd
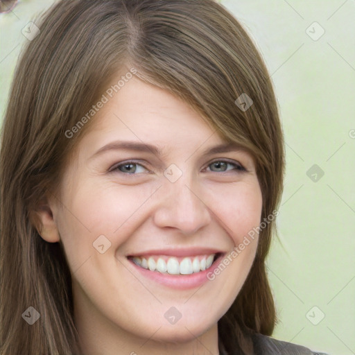
[[[174,183],[166,181],[155,210],[155,225],[173,227],[182,234],[194,234],[208,225],[211,214],[200,191],[197,183],[190,180],[188,186],[187,179],[183,177]]]

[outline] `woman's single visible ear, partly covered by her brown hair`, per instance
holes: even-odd
[[[47,198],[40,200],[37,209],[33,211],[33,225],[35,225],[42,239],[49,243],[60,241],[58,227],[53,218],[53,211]]]

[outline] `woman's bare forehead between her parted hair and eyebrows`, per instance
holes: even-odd
[[[162,146],[223,141],[203,117],[173,94],[132,78],[97,112],[82,144],[100,148],[113,139]]]

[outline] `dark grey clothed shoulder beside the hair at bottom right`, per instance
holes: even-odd
[[[252,341],[255,355],[327,355],[320,352],[312,352],[311,349],[302,345],[276,340],[263,334],[254,334]]]

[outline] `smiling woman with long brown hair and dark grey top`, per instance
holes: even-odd
[[[269,337],[283,137],[238,21],[67,0],[36,25],[3,123],[0,353],[315,354]]]

